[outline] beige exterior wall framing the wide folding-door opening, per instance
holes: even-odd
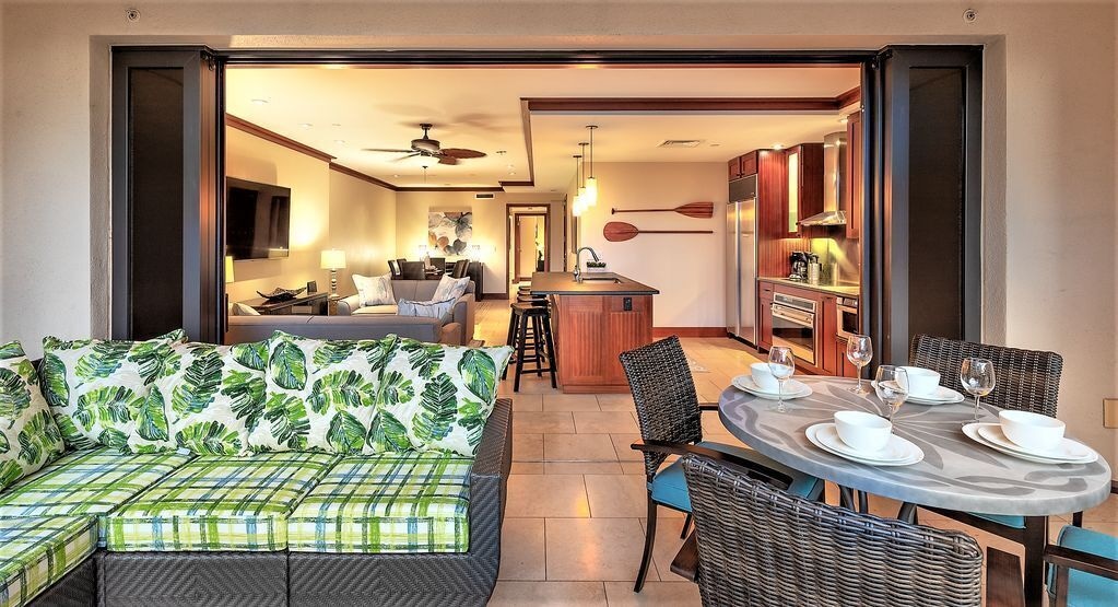
[[[1118,463],[1112,2],[0,0],[0,334],[108,331],[108,45],[878,48],[987,45],[984,339],[1061,352],[1061,417]]]

